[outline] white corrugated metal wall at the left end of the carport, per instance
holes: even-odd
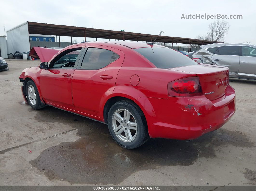
[[[29,34],[28,34],[28,23],[24,23],[14,29],[6,31],[8,54],[19,52],[26,52],[30,50],[29,46]]]

